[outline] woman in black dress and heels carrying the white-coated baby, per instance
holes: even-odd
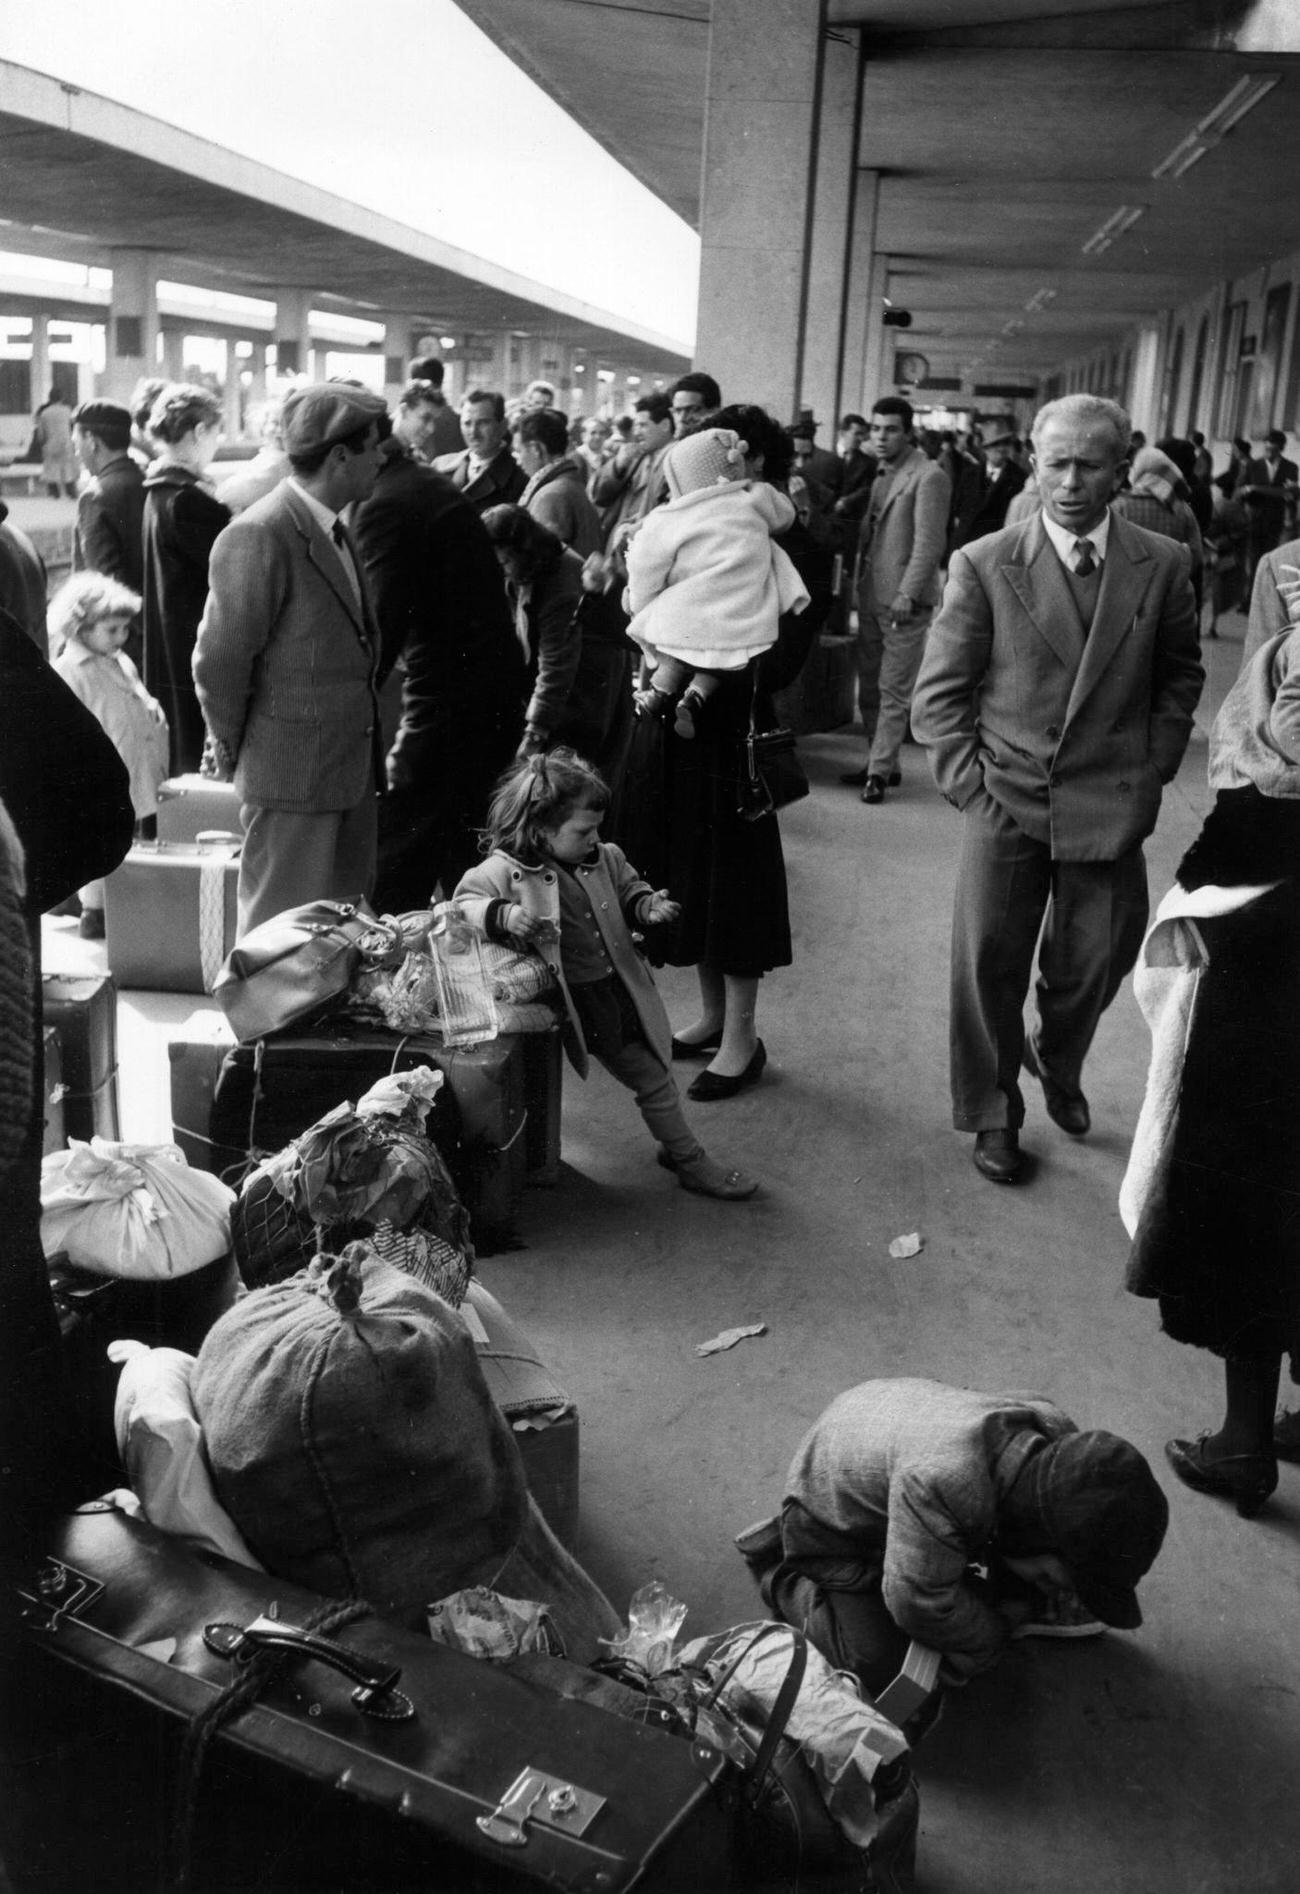
[[[785,489],[794,451],[762,407],[726,407],[709,424],[733,428],[749,443],[752,479]],[[724,674],[695,737],[678,737],[671,724],[639,724],[616,822],[629,860],[682,905],[661,951],[671,966],[697,970],[701,1010],[673,1053],[709,1059],[688,1089],[705,1102],[730,1099],[762,1076],[758,981],[792,958],[781,826],[775,811],[758,820],[739,813],[739,782],[750,712],[760,731],[777,727],[771,693],[794,682],[826,617],[830,557],[798,521],[777,544],[798,566],[811,604],[781,619],[775,646],[760,659]]]

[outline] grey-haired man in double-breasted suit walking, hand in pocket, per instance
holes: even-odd
[[[1110,513],[1129,434],[1124,409],[1092,394],[1038,411],[1042,509],[953,553],[912,706],[965,816],[953,1125],[976,1135],[974,1165],[995,1184],[1023,1174],[1021,1061],[1048,1116],[1090,1129],[1084,1057],[1143,941],[1143,839],[1205,676],[1186,549]]]

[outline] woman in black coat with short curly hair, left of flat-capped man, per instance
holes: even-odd
[[[163,388],[150,413],[159,458],[144,475],[144,684],[167,712],[171,775],[203,758],[203,712],[193,688],[193,642],[208,600],[208,555],[229,508],[208,468],[222,443],[222,405],[207,388]]]

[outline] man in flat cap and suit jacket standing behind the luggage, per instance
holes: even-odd
[[[371,892],[383,784],[379,633],[341,513],[375,485],[388,415],[368,388],[315,383],[280,424],[288,479],[218,536],[193,653],[205,771],[243,803],[241,938]]]

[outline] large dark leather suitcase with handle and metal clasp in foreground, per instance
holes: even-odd
[[[322,1599],[106,1502],[45,1544],[4,1695],[21,1894],[731,1885],[724,1760],[582,1701],[589,1672],[481,1663],[368,1614],[326,1633],[347,1674],[294,1652],[254,1672],[222,1652],[260,1619],[292,1644]],[[241,1680],[239,1708],[186,1748]]]

